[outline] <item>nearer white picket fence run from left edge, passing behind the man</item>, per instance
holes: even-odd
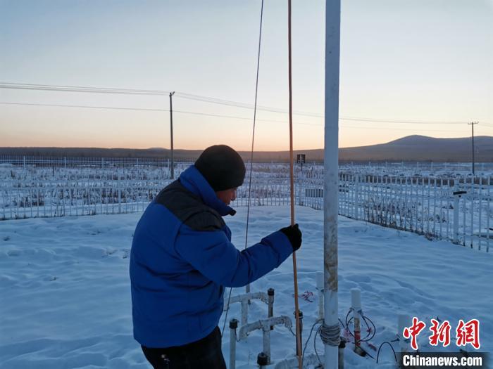
[[[0,187],[0,220],[141,212],[170,182],[170,179],[56,181],[38,182],[37,186]],[[235,207],[246,206],[248,202],[248,188],[242,186]],[[289,202],[289,185],[283,179],[252,182],[251,206],[289,205]]]

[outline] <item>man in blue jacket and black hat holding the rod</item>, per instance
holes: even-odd
[[[130,257],[134,337],[154,368],[225,368],[218,328],[225,287],[264,276],[301,246],[298,225],[239,252],[223,216],[244,181],[226,145],[204,150],[161,190],[135,229]]]

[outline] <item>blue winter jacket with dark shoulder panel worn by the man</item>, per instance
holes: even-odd
[[[280,231],[239,252],[223,221],[227,214],[235,210],[193,165],[149,204],[130,255],[137,342],[172,347],[206,337],[219,323],[223,286],[251,283],[292,254]]]

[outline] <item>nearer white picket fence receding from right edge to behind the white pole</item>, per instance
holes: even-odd
[[[299,205],[323,209],[323,183],[298,185]],[[492,187],[491,176],[339,174],[339,214],[489,252]]]

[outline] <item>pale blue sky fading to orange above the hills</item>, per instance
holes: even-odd
[[[325,1],[292,4],[294,148],[322,148]],[[251,108],[186,94],[253,105],[260,9],[0,0],[0,83],[176,91],[175,148],[249,150]],[[471,121],[493,136],[493,0],[342,0],[341,32],[340,147],[464,137]],[[258,105],[280,112],[258,110],[257,150],[289,148],[287,99],[287,1],[266,0]],[[0,89],[0,146],[169,148],[168,109],[168,96]]]

